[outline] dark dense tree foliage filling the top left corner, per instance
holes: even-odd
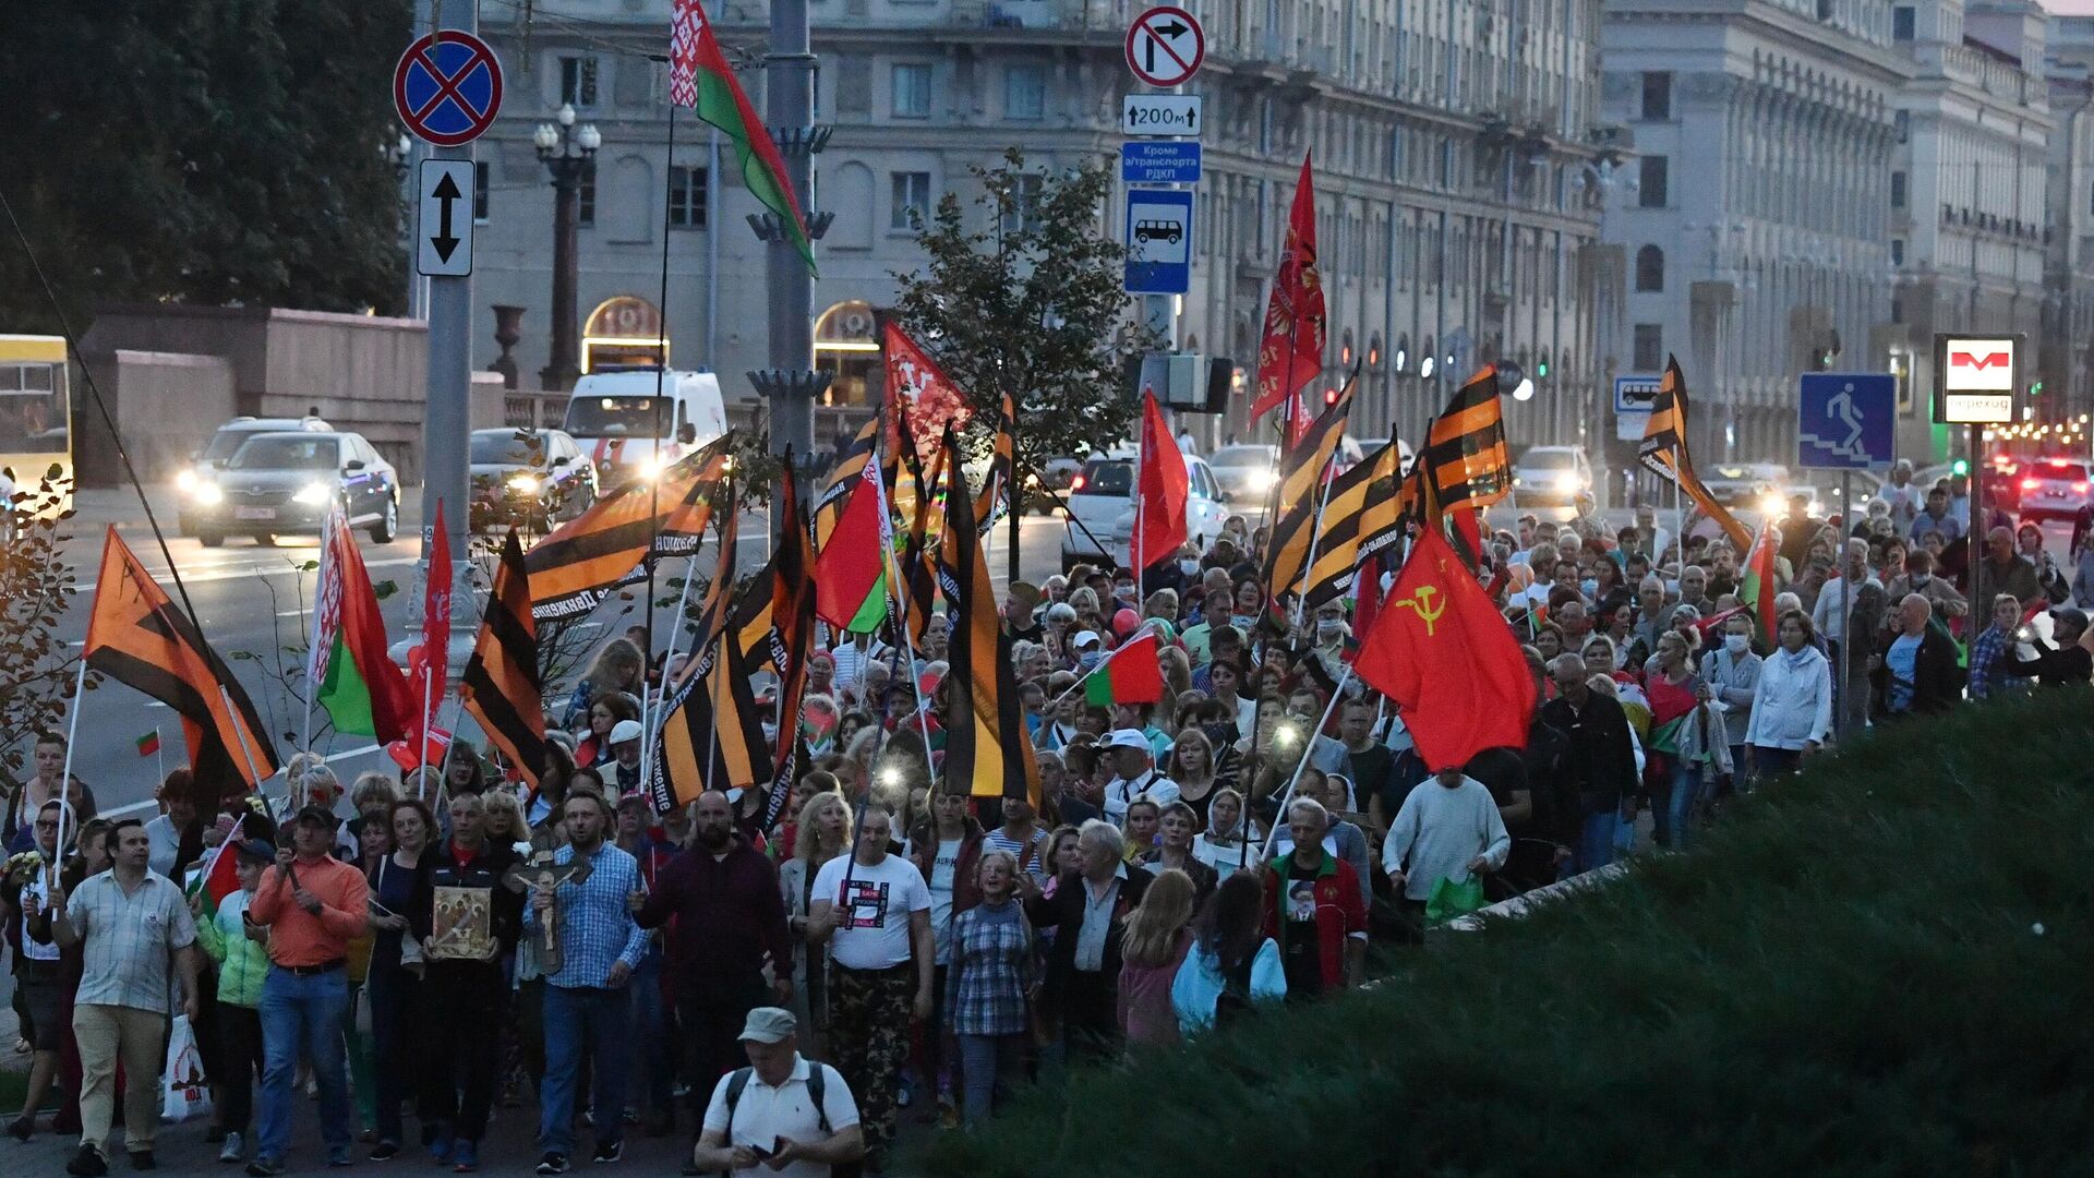
[[[103,302],[394,310],[385,147],[410,0],[13,0],[4,184],[86,329]],[[17,243],[0,321],[57,327]]]

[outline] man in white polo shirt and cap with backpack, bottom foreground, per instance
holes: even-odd
[[[693,1170],[741,1172],[762,1163],[785,1178],[825,1178],[833,1165],[865,1157],[850,1088],[833,1067],[800,1059],[798,1029],[789,1010],[750,1010],[741,1027],[750,1067],[714,1086],[691,1149]]]

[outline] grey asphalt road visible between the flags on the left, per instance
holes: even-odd
[[[163,526],[172,526],[172,493],[155,493],[155,516]],[[304,704],[293,696],[302,688],[302,667],[306,633],[312,625],[312,589],[316,574],[306,566],[318,560],[318,539],[283,539],[276,545],[258,545],[245,539],[228,539],[224,547],[205,549],[193,539],[168,537],[168,551],[161,553],[147,528],[144,511],[132,493],[84,493],[80,514],[67,526],[69,539],[63,545],[67,562],[73,564],[80,593],[71,599],[61,623],[61,637],[75,648],[86,639],[88,610],[94,593],[94,576],[101,562],[105,526],[115,524],[124,541],[138,553],[144,568],[168,593],[176,593],[172,566],[180,570],[188,599],[195,604],[203,633],[232,667],[235,677],[255,700],[264,723],[279,734],[281,748],[297,748],[304,732]],[[387,635],[398,643],[410,637],[410,625],[419,625],[419,551],[421,551],[419,495],[413,490],[402,503],[400,539],[389,545],[375,545],[360,539],[364,566],[371,581],[381,587],[392,581],[398,593],[381,599]],[[1022,568],[1028,579],[1045,579],[1060,568],[1062,524],[1043,516],[1028,516],[1022,524]],[[995,528],[988,545],[990,576],[999,591],[1005,574],[1007,530]],[[762,566],[768,558],[768,516],[750,511],[741,520],[741,551],[737,553],[743,572]],[[714,553],[699,555],[699,568],[710,572]],[[681,576],[681,568],[664,570]],[[658,589],[660,597],[668,589]],[[580,623],[591,643],[622,633],[628,625],[645,618],[645,593],[634,591],[630,599],[614,599]],[[658,608],[658,633],[666,635],[674,602]],[[660,641],[666,641],[662,637]],[[452,673],[463,658],[452,662]],[[563,702],[572,681],[555,683],[551,700]],[[456,706],[456,698],[444,704],[438,721],[465,736],[477,738],[471,719]],[[316,717],[314,746],[350,782],[364,769],[394,771],[392,761],[362,736],[335,736],[327,732],[327,713]],[[136,740],[159,729],[161,752],[140,757]],[[289,736],[285,736],[289,734]],[[153,807],[153,788],[165,769],[184,763],[180,719],[165,704],[121,683],[103,683],[88,692],[80,713],[80,738],[73,752],[73,773],[94,788],[96,805],[103,813],[140,813]]]

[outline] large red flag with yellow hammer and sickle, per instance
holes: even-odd
[[[1422,528],[1353,662],[1434,771],[1527,744],[1535,681],[1512,627],[1439,528]]]

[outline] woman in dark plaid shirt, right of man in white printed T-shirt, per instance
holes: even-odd
[[[1011,899],[1018,859],[1009,851],[982,851],[976,880],[982,901],[953,918],[953,962],[944,979],[946,1027],[959,1038],[970,1126],[988,1119],[997,1079],[1018,1073],[1039,987],[1032,924]]]

